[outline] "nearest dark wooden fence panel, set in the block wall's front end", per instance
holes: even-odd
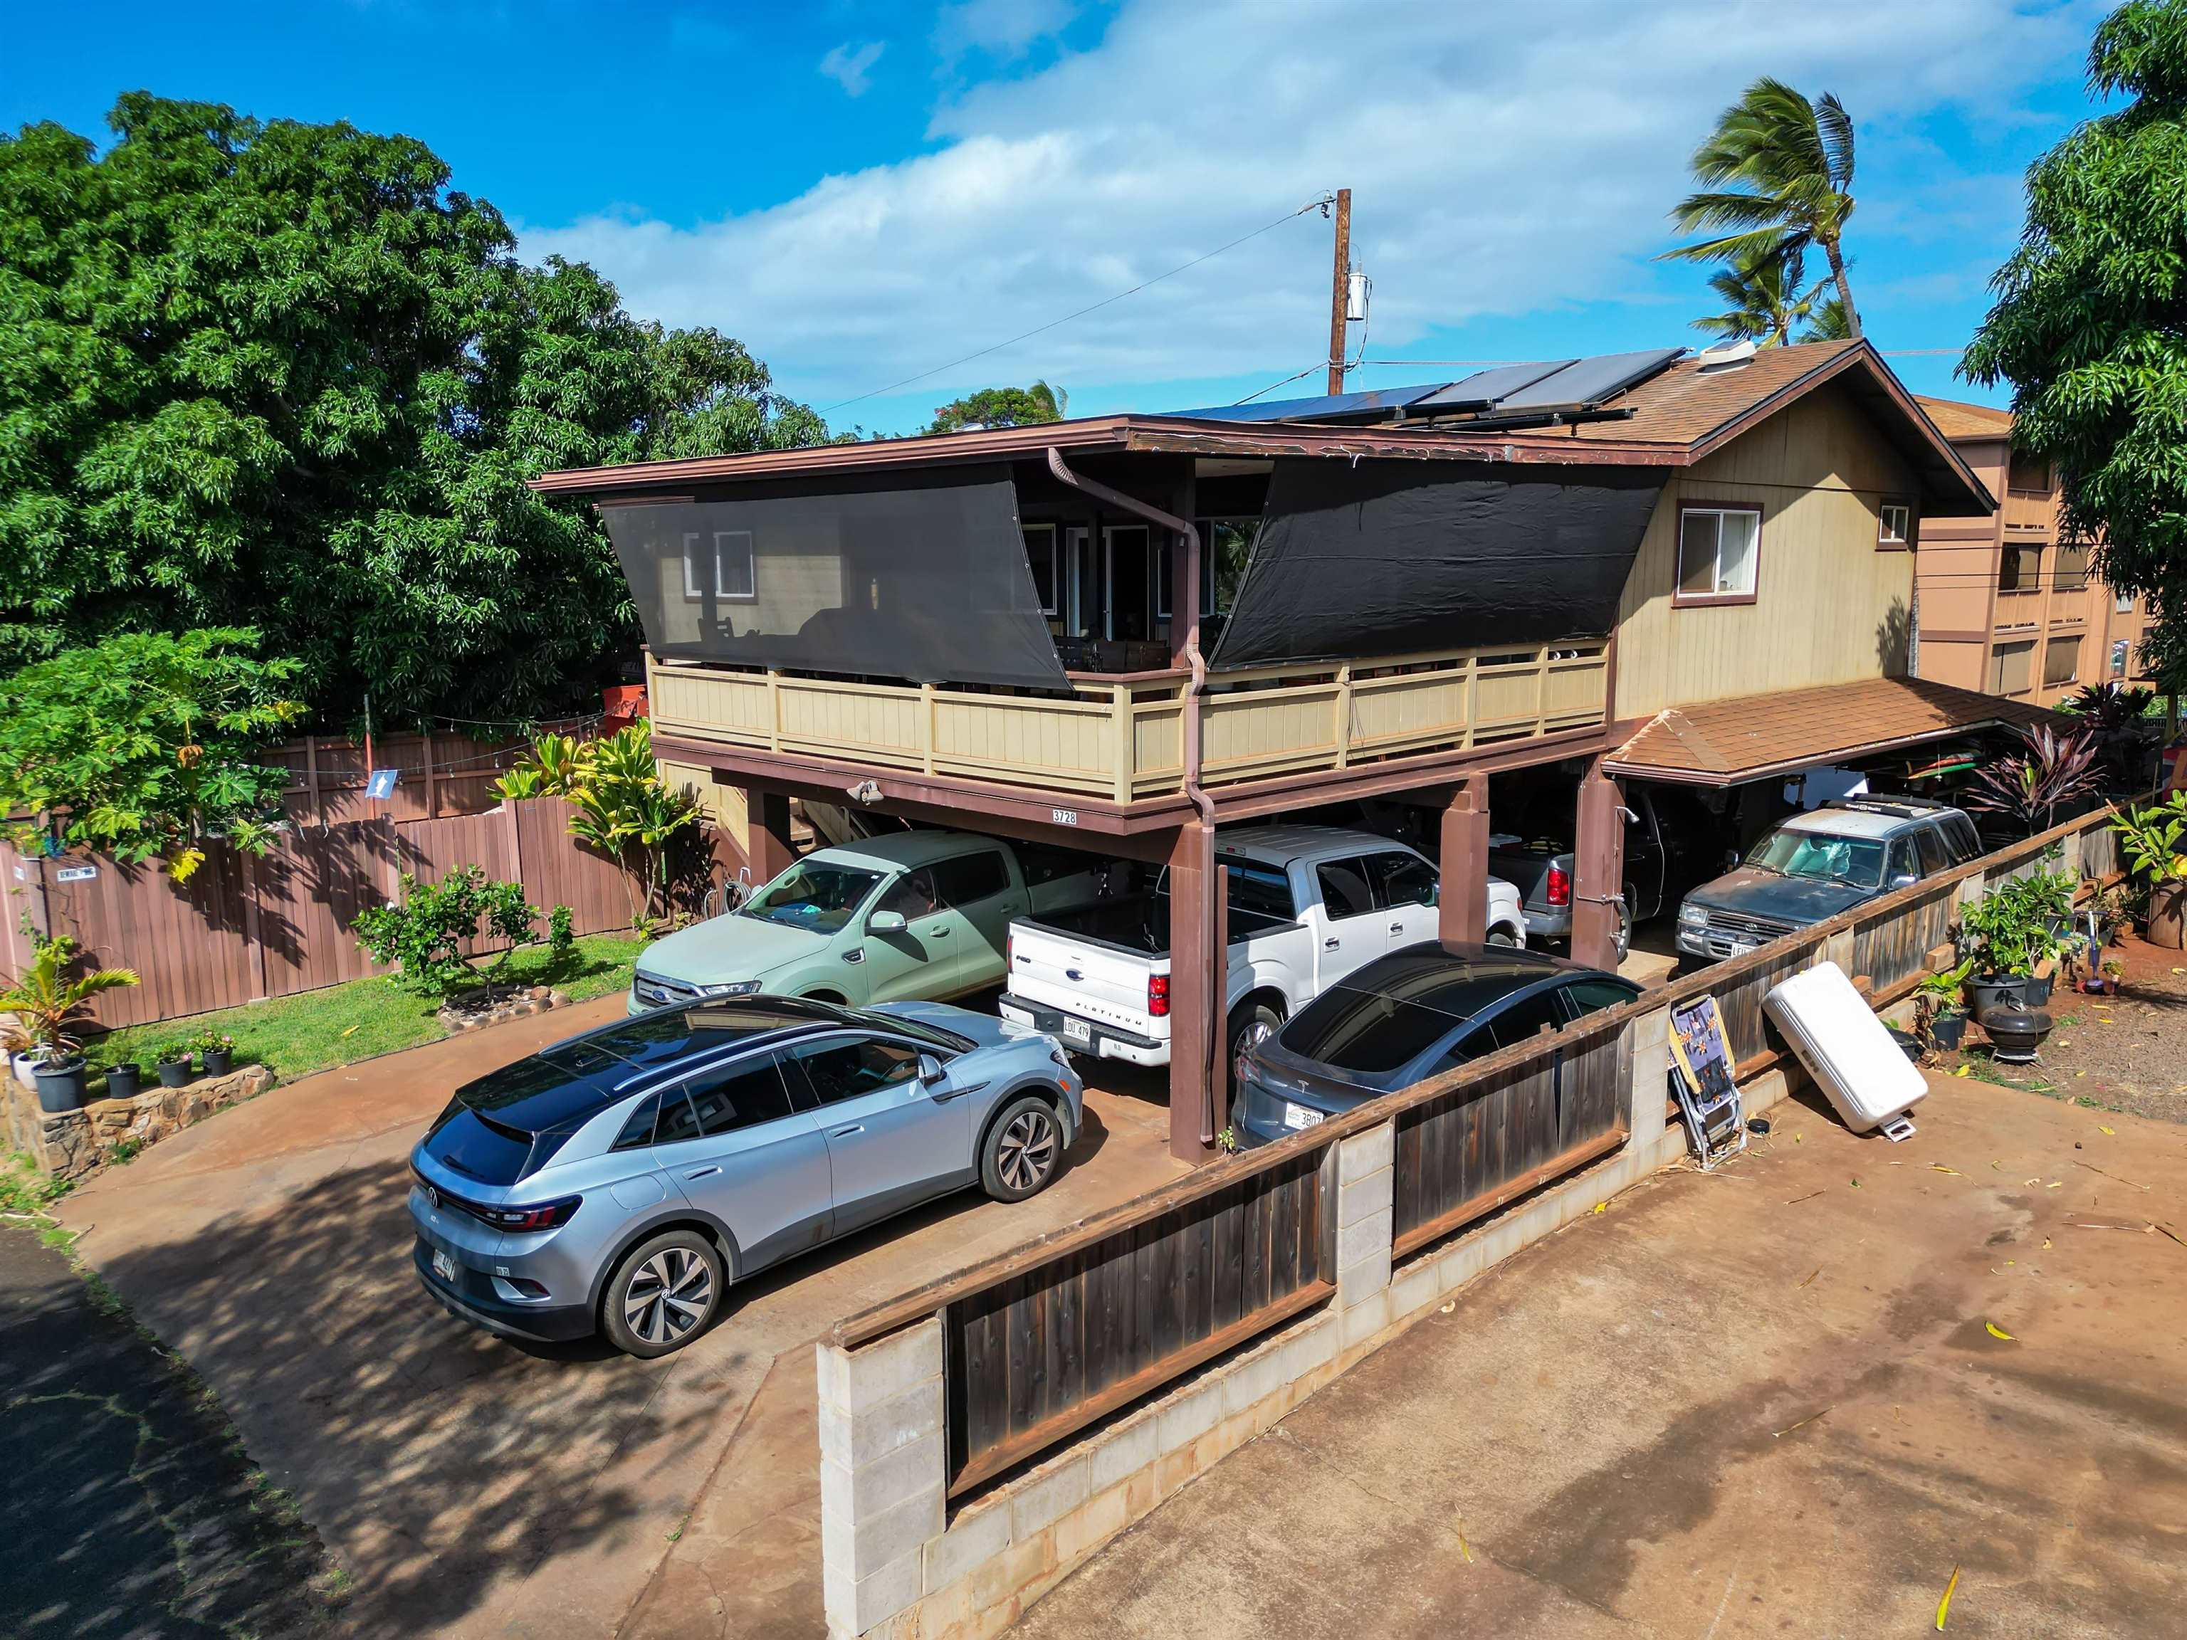
[[[1188,1196],[943,1305],[951,1493],[1334,1292],[1325,1155]]]

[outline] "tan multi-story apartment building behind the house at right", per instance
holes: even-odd
[[[2036,706],[2093,682],[2143,680],[2148,610],[2089,571],[2086,542],[2060,540],[2056,475],[2043,457],[2012,448],[2012,413],[1951,398],[1918,402],[2001,505],[1988,518],[1920,527],[1916,671]]]

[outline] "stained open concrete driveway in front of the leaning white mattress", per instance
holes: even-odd
[[[1520,1253],[1028,1640],[2187,1633],[2187,1135],[1931,1078]],[[1997,1327],[2005,1338],[1990,1332]]]

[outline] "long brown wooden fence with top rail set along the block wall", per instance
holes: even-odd
[[[2117,872],[2110,809],[2080,816],[1632,1004],[1544,1032],[1264,1150],[958,1270],[835,1325],[857,1351],[929,1316],[943,1334],[949,1496],[1015,1469],[1089,1424],[1273,1332],[1336,1292],[1363,1260],[1400,1260],[1618,1150],[1645,1098],[1642,1021],[1715,995],[1741,1078],[1782,1047],[1763,997],[1815,962],[1868,975],[1885,1006],[1929,971],[1955,907],[1986,881],[2047,868]],[[1338,1148],[1391,1128],[1389,1211],[1341,1222]],[[1660,1131],[1660,1126],[1658,1126]],[[1371,1246],[1369,1246],[1371,1242]],[[1378,1251],[1380,1249],[1380,1251]],[[1387,1264],[1382,1266],[1387,1270]]]

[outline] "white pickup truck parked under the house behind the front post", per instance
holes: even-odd
[[[1242,827],[1216,835],[1229,866],[1231,1058],[1378,956],[1437,934],[1435,866],[1402,842],[1325,827]],[[1518,890],[1487,879],[1489,942],[1524,945]],[[1170,894],[1010,923],[1004,1019],[1065,1047],[1133,1065],[1170,1063]]]

